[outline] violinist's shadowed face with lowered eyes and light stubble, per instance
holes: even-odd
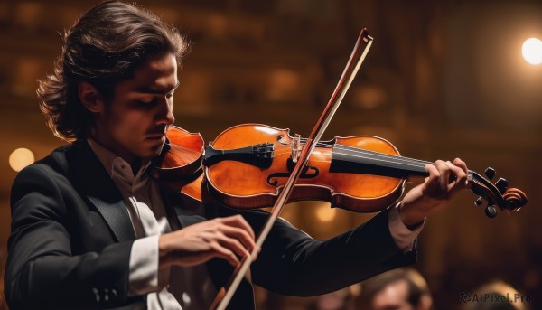
[[[145,61],[134,77],[120,81],[96,118],[93,138],[129,164],[159,155],[173,124],[177,63],[171,53]]]

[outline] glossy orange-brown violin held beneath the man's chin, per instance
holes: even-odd
[[[292,173],[304,139],[289,129],[243,124],[220,133],[203,150],[200,134],[180,127],[168,131],[167,151],[156,168],[158,178],[197,201],[216,200],[234,209],[270,207]],[[335,136],[320,141],[294,184],[287,202],[323,201],[356,212],[382,211],[402,195],[409,176],[427,176],[423,160],[399,155],[395,146],[378,136]],[[527,195],[495,183],[495,170],[485,177],[468,171],[468,188],[487,202],[488,217],[518,211]],[[497,207],[497,208],[496,208]]]

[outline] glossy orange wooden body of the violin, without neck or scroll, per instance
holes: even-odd
[[[236,150],[266,144],[273,152],[268,164],[251,160],[250,155],[242,158],[233,154],[223,155],[212,164],[204,161],[213,197],[238,209],[272,206],[293,169],[293,139],[288,129],[260,124],[238,125],[222,132],[210,144],[212,149]],[[311,153],[288,202],[325,201],[349,211],[373,212],[381,211],[400,197],[404,178],[344,170],[332,172],[332,152],[336,145],[399,155],[395,146],[377,136],[336,136],[332,141],[321,142]],[[210,162],[208,158],[212,157],[206,154],[206,161]]]

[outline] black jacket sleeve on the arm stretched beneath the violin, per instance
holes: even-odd
[[[278,294],[314,296],[414,263],[416,242],[412,251],[397,248],[389,232],[388,212],[330,240],[313,240],[279,219],[252,265],[255,283]],[[244,215],[255,230],[267,217],[263,211]]]

